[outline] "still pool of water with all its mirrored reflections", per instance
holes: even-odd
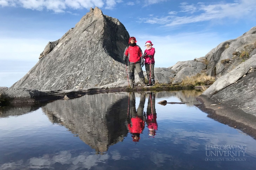
[[[0,170],[255,169],[256,140],[196,108],[200,94],[105,93],[0,108]]]

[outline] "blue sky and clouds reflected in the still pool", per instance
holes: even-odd
[[[136,95],[136,109],[140,98]],[[157,104],[154,138],[145,127],[140,142],[131,134],[106,153],[83,143],[65,126],[52,124],[41,109],[0,118],[0,169],[254,169],[256,141],[186,104]],[[180,102],[176,97],[165,99]],[[147,111],[148,96],[144,111]],[[100,132],[99,132],[100,133]],[[247,145],[246,162],[206,162],[206,145]]]

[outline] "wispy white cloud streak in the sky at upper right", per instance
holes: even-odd
[[[242,19],[245,16],[250,18],[256,15],[256,1],[255,0],[237,0],[234,3],[215,3],[208,4],[199,2],[196,5],[188,5],[188,3],[181,3],[181,10],[179,13],[185,16],[173,16],[174,12],[169,12],[169,15],[162,17],[152,17],[150,19],[142,18],[141,21],[151,24],[162,24],[165,26],[182,25],[188,23],[196,23],[202,21],[210,21],[215,19]],[[191,15],[193,13],[200,13]],[[189,14],[189,15],[188,15]]]

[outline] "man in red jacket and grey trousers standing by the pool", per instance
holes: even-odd
[[[135,83],[134,69],[136,69],[137,73],[139,74],[141,86],[146,86],[145,77],[142,71],[142,67],[144,66],[142,50],[140,46],[136,44],[136,42],[135,37],[130,37],[129,44],[123,53],[123,61],[128,61],[129,64],[129,80],[131,82],[131,88],[134,87]]]

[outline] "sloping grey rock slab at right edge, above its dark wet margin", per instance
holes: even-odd
[[[256,116],[256,55],[220,77],[202,97]],[[199,96],[200,97],[200,96]]]

